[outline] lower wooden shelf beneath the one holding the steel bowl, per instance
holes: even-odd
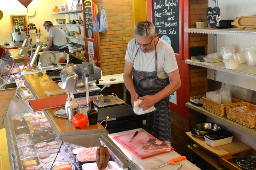
[[[219,157],[212,153],[209,153],[208,151],[201,148],[200,146],[194,144],[192,147],[188,145],[188,148],[191,151],[195,152],[198,156],[200,156],[202,159],[204,159],[206,162],[208,162],[210,165],[212,165],[216,169],[218,169],[218,170],[227,169],[226,167],[219,168],[218,167]]]

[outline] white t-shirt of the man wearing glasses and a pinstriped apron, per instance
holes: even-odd
[[[152,41],[154,43],[154,41]],[[149,53],[143,53],[140,49],[134,60],[138,45],[135,45],[135,38],[129,41],[125,54],[125,60],[133,63],[133,68],[138,71],[155,71],[155,49]],[[156,45],[157,55],[157,76],[167,78],[167,73],[178,69],[174,51],[165,40],[159,41]]]

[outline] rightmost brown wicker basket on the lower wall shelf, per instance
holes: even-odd
[[[241,112],[240,110],[234,109],[235,107],[246,106],[248,109],[256,111],[256,105],[248,103],[248,102],[241,102],[232,106],[227,107],[227,118],[234,120],[235,122],[241,123],[246,125],[250,128],[256,128],[256,115],[255,114],[248,114],[245,112]]]

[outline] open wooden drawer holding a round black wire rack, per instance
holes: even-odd
[[[226,155],[224,157],[219,158],[219,163],[227,167],[228,169],[232,170],[242,170],[237,164],[236,159],[238,157],[244,156],[244,155],[256,155],[255,150],[249,150],[249,151],[243,151],[240,153],[232,154],[232,155]]]

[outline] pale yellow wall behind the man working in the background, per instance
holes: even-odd
[[[70,10],[73,0],[67,0],[68,8]],[[36,10],[36,14],[33,17],[27,18],[28,22],[36,25],[41,30],[40,41],[45,42],[44,37],[48,36],[48,32],[44,29],[44,21],[49,20],[55,23],[55,19],[64,18],[63,15],[52,15],[52,9],[55,6],[61,8],[61,5],[65,7],[65,0],[33,0],[28,7],[32,7]],[[0,20],[0,44],[4,44],[4,41],[9,43],[11,41],[12,26],[10,15],[25,15],[25,7],[17,0],[1,0],[0,10],[3,12],[3,19]],[[66,16],[67,17],[67,16]],[[38,38],[38,37],[37,37]],[[36,36],[32,35],[33,44],[36,43]]]

